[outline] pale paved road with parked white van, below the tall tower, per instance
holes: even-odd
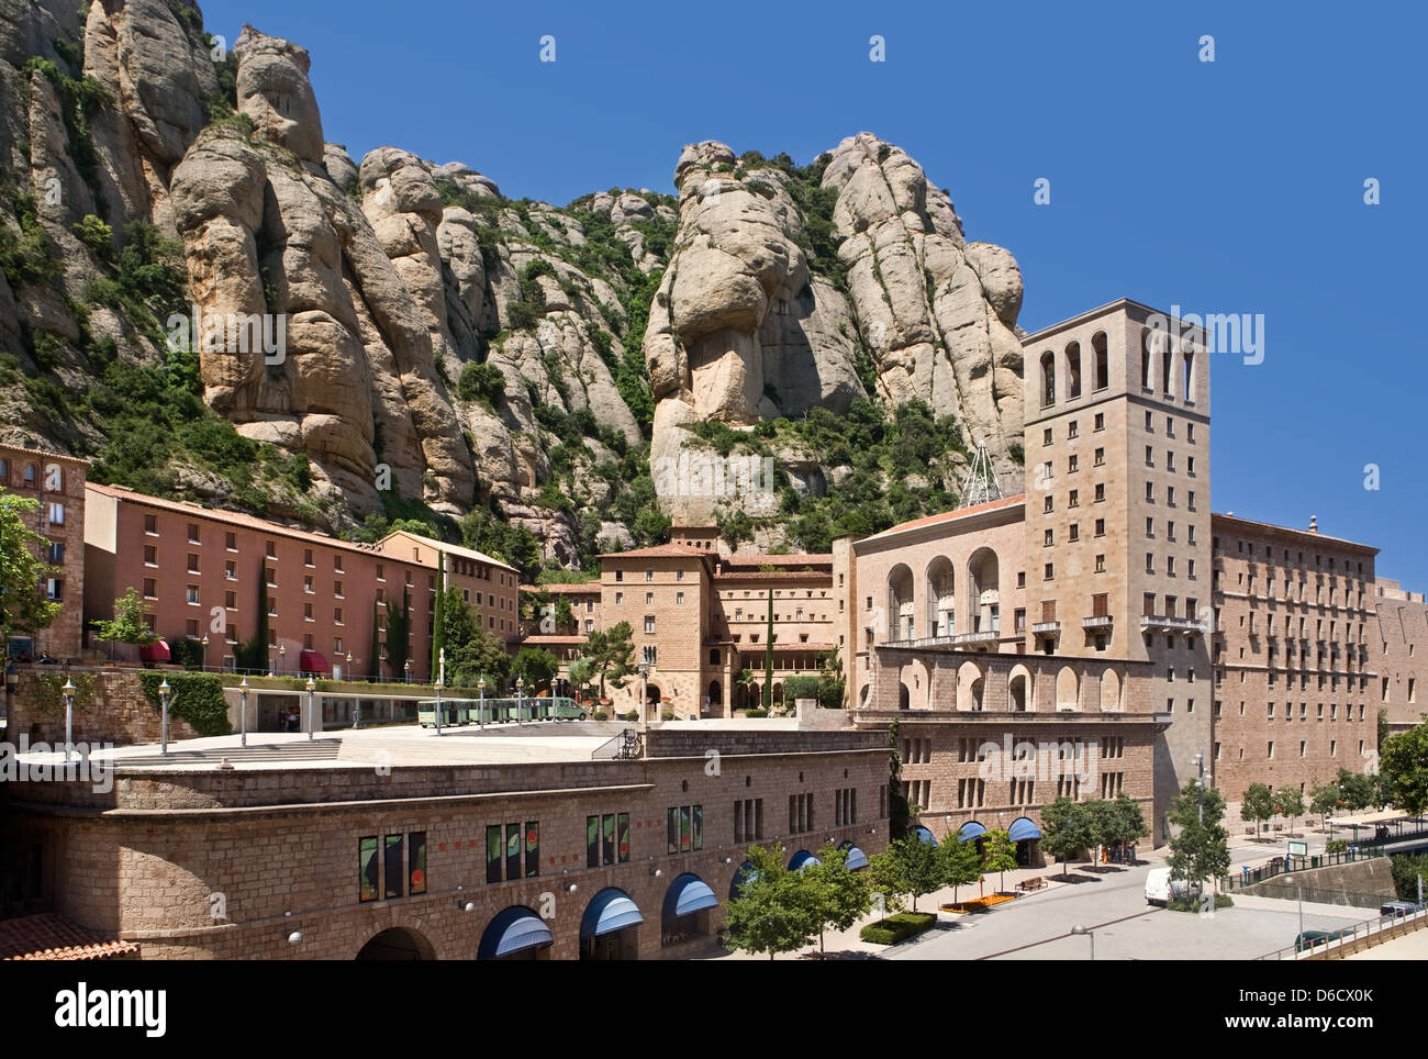
[[[1264,861],[1262,849],[1231,851],[1235,865]],[[1288,901],[1247,899],[1212,916],[1167,912],[1145,903],[1145,876],[1155,865],[1091,875],[1084,882],[1031,893],[982,915],[955,916],[935,931],[884,951],[884,959],[1087,959],[1091,939],[1068,936],[1077,923],[1094,931],[1095,959],[1254,959],[1294,943],[1298,908]],[[1052,873],[1054,875],[1054,873]],[[1377,909],[1307,909],[1304,929],[1351,926]]]

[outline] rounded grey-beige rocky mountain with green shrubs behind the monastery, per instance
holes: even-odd
[[[901,150],[701,143],[677,198],[554,207],[397,147],[358,163],[310,63],[253,27],[226,47],[191,0],[0,0],[0,438],[567,565],[725,518],[650,462],[715,425],[811,498],[844,477],[788,430],[814,408],[922,402],[1020,474],[1020,273]]]

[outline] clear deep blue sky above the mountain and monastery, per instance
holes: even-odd
[[[1421,7],[200,1],[228,41],[248,21],[308,49],[357,160],[394,144],[564,204],[673,191],[695,140],[803,164],[870,130],[1015,254],[1028,331],[1121,295],[1262,314],[1264,363],[1211,368],[1214,508],[1318,515],[1428,589]]]

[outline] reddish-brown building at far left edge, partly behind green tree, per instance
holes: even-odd
[[[84,598],[84,477],[89,464],[74,457],[0,445],[0,488],[40,501],[24,524],[46,539],[41,558],[56,572],[44,578],[44,594],[64,604],[46,629],[10,629],[10,658],[33,661],[50,655],[76,658],[83,631],[79,602]]]

